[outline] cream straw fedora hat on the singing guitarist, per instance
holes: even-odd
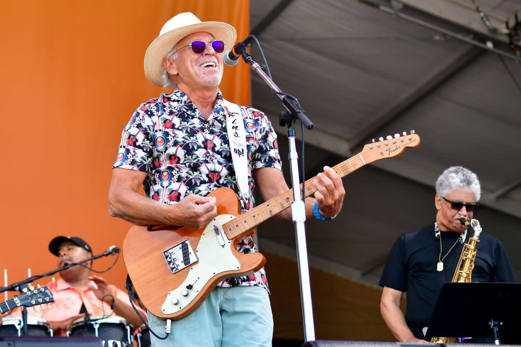
[[[158,86],[163,86],[161,72],[163,69],[163,58],[170,49],[185,36],[196,32],[208,32],[216,40],[226,43],[225,49],[230,49],[237,39],[237,32],[230,24],[223,22],[202,22],[192,12],[183,12],[171,18],[163,25],[159,36],[148,46],[145,53],[145,76],[148,81]]]

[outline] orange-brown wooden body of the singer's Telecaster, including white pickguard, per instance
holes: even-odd
[[[241,213],[235,192],[219,188],[208,196],[216,198],[217,216],[205,228],[134,226],[123,241],[123,260],[134,288],[156,317],[179,320],[197,309],[221,280],[252,274],[266,262],[261,253],[237,251],[239,239],[216,233],[216,226]]]

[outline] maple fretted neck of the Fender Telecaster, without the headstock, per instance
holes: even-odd
[[[374,161],[374,160],[370,160]],[[345,177],[359,168],[362,168],[366,162],[362,153],[349,158],[333,166],[332,169],[340,176]],[[313,184],[313,181],[317,179],[317,176],[308,179],[304,182],[304,197],[308,197],[317,191],[317,188]],[[300,184],[300,190],[302,191],[302,184]],[[262,222],[270,219],[277,213],[288,209],[293,203],[293,189],[289,189],[283,192],[281,195],[271,198],[270,200],[258,205],[254,209],[247,211],[235,219],[231,220],[222,225],[228,239],[242,238],[250,233],[250,230],[255,228]]]

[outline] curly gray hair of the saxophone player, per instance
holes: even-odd
[[[444,197],[456,188],[469,188],[476,197],[476,202],[481,198],[481,185],[478,176],[463,166],[451,166],[436,180],[436,193]]]

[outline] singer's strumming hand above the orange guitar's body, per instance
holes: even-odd
[[[215,218],[217,203],[215,197],[190,194],[172,205],[171,211],[172,214],[167,216],[167,218],[171,218],[169,224],[199,230]]]

